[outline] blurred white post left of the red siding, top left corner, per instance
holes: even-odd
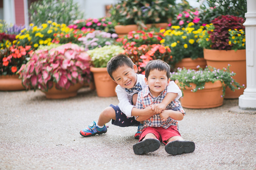
[[[7,24],[15,24],[14,0],[3,0],[4,20]]]

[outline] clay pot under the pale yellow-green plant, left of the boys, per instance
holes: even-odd
[[[116,96],[115,88],[117,84],[109,76],[107,68],[91,67],[90,71],[93,73],[94,83],[99,97]]]

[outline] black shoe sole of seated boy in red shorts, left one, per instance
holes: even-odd
[[[133,145],[133,151],[136,155],[142,155],[149,152],[154,152],[160,147],[158,139],[150,138],[145,139]]]

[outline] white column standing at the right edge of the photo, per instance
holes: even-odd
[[[246,83],[244,94],[239,96],[241,110],[256,111],[256,1],[247,0],[246,21]]]

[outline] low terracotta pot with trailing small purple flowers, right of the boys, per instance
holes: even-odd
[[[183,107],[204,109],[221,106],[226,87],[232,91],[244,87],[233,79],[234,75],[229,66],[222,70],[208,66],[198,71],[179,68],[170,78],[175,80],[183,93],[180,98]]]

